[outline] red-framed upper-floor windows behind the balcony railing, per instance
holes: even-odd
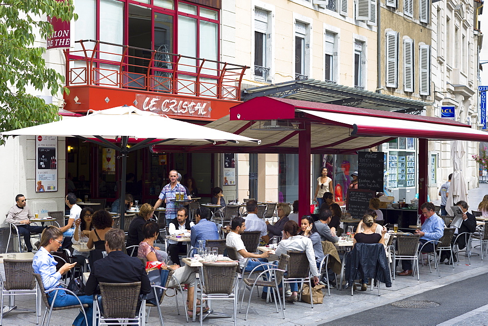
[[[219,10],[197,4],[173,0],[75,0],[75,21],[72,44],[81,50],[76,40],[100,40],[141,48],[135,55],[146,57],[142,49],[178,53],[185,56],[219,59]],[[125,10],[128,8],[128,20]],[[106,54],[101,59],[120,61],[122,47],[103,44]],[[117,55],[119,54],[119,55]],[[180,64],[199,65],[194,59],[183,58]],[[205,65],[204,74],[215,75],[215,64]],[[187,67],[191,72],[196,68]],[[180,69],[182,70],[182,69]]]

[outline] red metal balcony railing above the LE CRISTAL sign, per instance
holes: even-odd
[[[118,87],[239,101],[241,81],[249,68],[102,41],[76,43],[81,50],[64,51],[66,86]]]

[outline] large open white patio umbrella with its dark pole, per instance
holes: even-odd
[[[125,197],[125,170],[129,152],[175,139],[207,142],[228,141],[233,143],[246,141],[257,144],[261,142],[258,139],[171,119],[165,115],[143,111],[127,105],[100,111],[89,110],[87,115],[82,117],[5,131],[2,134],[13,136],[50,135],[78,137],[121,152],[120,198],[122,203]],[[129,138],[142,140],[136,145],[127,148]],[[110,142],[109,139],[116,140],[120,145]],[[121,205],[120,214],[121,228],[123,229],[124,205]]]

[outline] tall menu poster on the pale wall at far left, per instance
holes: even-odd
[[[58,191],[58,137],[36,136],[36,193]]]

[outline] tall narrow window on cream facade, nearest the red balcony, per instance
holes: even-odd
[[[254,78],[260,81],[271,81],[271,33],[268,30],[268,17],[267,11],[254,9]]]

